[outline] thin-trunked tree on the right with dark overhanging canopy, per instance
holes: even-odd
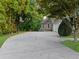
[[[56,17],[66,17],[72,16],[73,27],[74,27],[74,41],[76,39],[76,19],[77,19],[77,9],[79,6],[79,0],[37,0],[40,10],[43,10],[45,14],[51,14],[51,16]]]

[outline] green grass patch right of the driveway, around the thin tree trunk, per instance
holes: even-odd
[[[79,52],[79,41],[78,42],[74,42],[71,40],[66,40],[63,42],[63,44],[71,49],[73,49],[76,52]]]

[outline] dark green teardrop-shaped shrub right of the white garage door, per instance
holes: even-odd
[[[58,33],[60,36],[68,36],[72,33],[72,26],[69,22],[69,20],[64,19],[59,28],[58,28]]]

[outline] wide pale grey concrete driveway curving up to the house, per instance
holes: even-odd
[[[0,59],[79,59],[79,54],[62,45],[55,32],[26,32],[3,44]]]

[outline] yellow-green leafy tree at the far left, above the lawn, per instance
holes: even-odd
[[[19,18],[22,17],[22,12],[25,14],[26,7],[27,0],[0,0],[0,20],[6,21],[8,25],[13,27],[15,25],[17,28]],[[7,27],[7,24],[5,27]]]

